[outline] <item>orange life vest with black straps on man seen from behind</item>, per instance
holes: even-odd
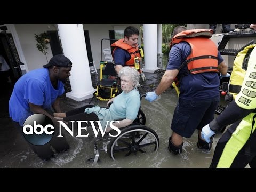
[[[185,41],[191,47],[191,54],[178,70],[188,65],[191,74],[219,72],[218,49],[215,43],[209,39],[211,36],[211,29],[191,29],[182,31],[172,38],[171,46]]]

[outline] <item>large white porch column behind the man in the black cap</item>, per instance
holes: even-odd
[[[58,29],[64,55],[72,62],[69,77],[72,91],[66,93],[66,97],[76,101],[91,98],[95,89],[92,87],[83,25],[58,24]]]

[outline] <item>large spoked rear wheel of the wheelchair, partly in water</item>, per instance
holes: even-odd
[[[144,125],[132,125],[121,129],[118,137],[109,143],[109,156],[115,160],[117,157],[134,155],[137,152],[146,153],[157,151],[159,138],[156,132]]]

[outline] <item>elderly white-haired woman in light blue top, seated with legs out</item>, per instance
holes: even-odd
[[[122,93],[110,99],[108,104],[113,104],[108,108],[86,105],[84,107],[68,111],[66,113],[54,113],[54,117],[63,118],[65,121],[84,120],[101,121],[102,129],[105,129],[107,121],[123,119],[113,123],[118,128],[130,125],[138,115],[140,108],[140,94],[137,90],[139,86],[140,74],[134,67],[123,67],[119,71]],[[108,125],[106,132],[111,130]]]

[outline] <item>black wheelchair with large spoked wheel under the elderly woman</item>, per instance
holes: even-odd
[[[145,97],[146,95],[141,95]],[[117,137],[97,137],[94,141],[95,157],[88,161],[98,162],[99,152],[105,151],[110,158],[126,157],[130,154],[147,153],[157,151],[159,148],[159,138],[157,133],[150,127],[145,126],[146,117],[141,109],[137,118],[129,126],[120,129],[121,133]],[[114,130],[111,130],[114,131]],[[115,133],[111,133],[115,135]]]

